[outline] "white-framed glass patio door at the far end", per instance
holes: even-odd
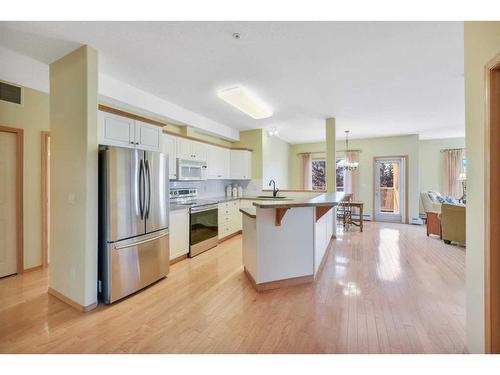
[[[405,158],[375,159],[376,221],[402,223],[405,217]]]

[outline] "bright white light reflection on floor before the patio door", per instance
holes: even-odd
[[[379,279],[396,281],[401,275],[399,231],[384,228],[380,231],[377,275]]]

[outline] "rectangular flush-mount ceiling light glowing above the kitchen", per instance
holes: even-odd
[[[249,93],[244,87],[236,86],[219,90],[217,95],[226,103],[231,104],[256,120],[273,115],[273,112],[262,101]]]

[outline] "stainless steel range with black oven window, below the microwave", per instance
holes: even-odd
[[[207,251],[219,243],[218,202],[198,199],[198,189],[170,189],[170,202],[189,208],[189,257]]]

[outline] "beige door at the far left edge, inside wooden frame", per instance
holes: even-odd
[[[17,135],[0,131],[0,277],[17,272]]]

